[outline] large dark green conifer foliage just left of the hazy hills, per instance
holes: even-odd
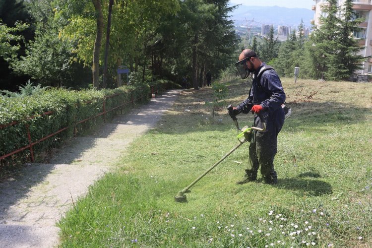
[[[238,39],[228,18],[235,7],[227,0],[185,0],[180,7],[176,16],[163,16],[157,29],[155,73],[168,71],[180,81],[186,76],[198,88],[206,71],[218,77],[237,56]]]

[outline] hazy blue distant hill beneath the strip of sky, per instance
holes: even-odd
[[[314,18],[314,11],[307,8],[240,5],[231,15],[237,25],[246,25],[246,19],[252,20],[254,18],[253,23],[248,23],[253,26],[273,24],[274,28],[277,28],[277,25],[298,26],[303,19],[305,27],[310,28],[310,20]]]

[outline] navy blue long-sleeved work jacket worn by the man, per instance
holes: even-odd
[[[278,134],[284,124],[285,113],[281,106],[286,100],[286,94],[275,70],[265,70],[258,78],[258,72],[264,65],[266,64],[262,63],[254,71],[249,96],[237,108],[239,112],[248,114],[253,105],[261,105],[263,107],[260,113],[262,120],[255,115],[254,126],[262,128],[261,122],[265,122],[267,132]]]

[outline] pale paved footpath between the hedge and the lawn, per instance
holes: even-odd
[[[56,222],[88,186],[125,155],[134,138],[153,127],[180,90],[104,124],[96,135],[76,137],[50,159],[27,164],[19,176],[0,183],[0,248],[47,248],[58,244]]]

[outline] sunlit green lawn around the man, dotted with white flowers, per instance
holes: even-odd
[[[239,143],[227,111],[212,118],[205,106],[212,89],[189,90],[75,202],[58,223],[60,245],[372,247],[372,84],[293,81],[282,79],[292,116],[278,137],[278,185],[235,184],[249,167],[245,143],[175,202]],[[236,105],[249,87],[229,89]]]

